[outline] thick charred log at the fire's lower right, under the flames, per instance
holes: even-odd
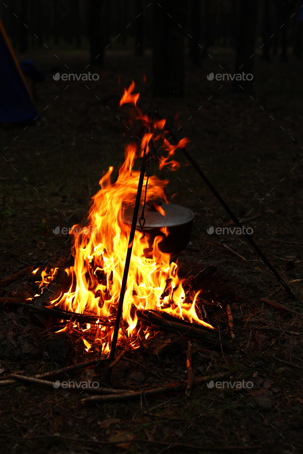
[[[206,345],[215,347],[220,346],[219,331],[217,329],[207,328],[198,324],[192,324],[182,319],[177,319],[166,312],[157,312],[155,310],[138,310],[138,319],[147,325],[152,325],[165,331],[171,331],[185,335],[186,337],[202,341]],[[222,346],[230,347],[230,341],[221,338]]]

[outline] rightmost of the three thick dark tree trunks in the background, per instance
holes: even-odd
[[[233,80],[234,91],[252,91],[253,80],[247,80],[247,74],[254,74],[255,34],[257,22],[257,1],[241,0],[236,43],[235,74],[241,74],[242,80]],[[251,78],[251,76],[249,76]]]

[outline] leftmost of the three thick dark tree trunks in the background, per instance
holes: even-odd
[[[88,35],[90,63],[103,66],[104,45],[101,26],[103,0],[89,0]]]

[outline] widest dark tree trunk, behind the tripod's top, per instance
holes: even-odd
[[[155,96],[184,95],[186,2],[162,0],[154,8],[153,75]],[[174,19],[168,14],[174,15]],[[179,24],[179,25],[178,25]]]

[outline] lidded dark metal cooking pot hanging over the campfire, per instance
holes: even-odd
[[[125,209],[125,223],[131,224],[133,213],[133,207]],[[139,210],[136,228],[143,232],[147,237],[149,248],[144,250],[146,256],[151,256],[153,250],[152,246],[156,236],[162,236],[163,238],[159,243],[159,249],[162,252],[177,255],[186,248],[191,239],[195,218],[195,213],[192,210],[172,203],[159,204],[147,202],[144,208],[144,225],[142,220],[140,225],[139,218],[141,213],[142,207],[140,207]],[[160,231],[163,227],[167,227],[167,236]]]

